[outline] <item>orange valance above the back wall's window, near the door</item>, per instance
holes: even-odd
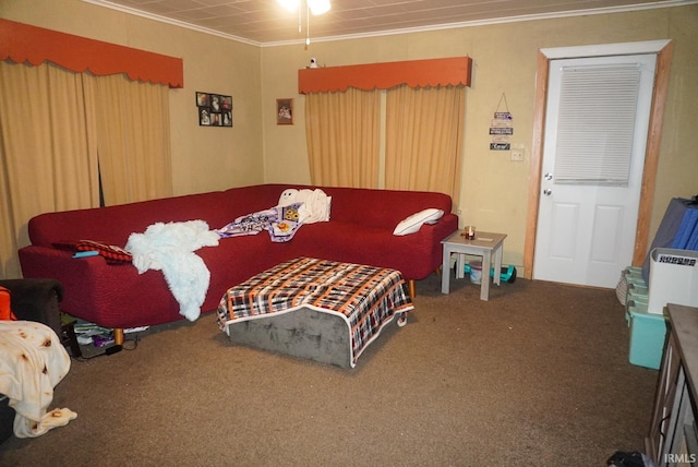
[[[409,87],[470,86],[471,69],[470,57],[309,68],[298,71],[298,92],[334,93],[348,87],[389,89],[401,84]]]

